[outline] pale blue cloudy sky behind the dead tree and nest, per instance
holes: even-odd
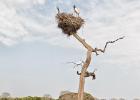
[[[93,54],[85,91],[99,98],[140,97],[140,0],[0,0],[0,94],[57,98],[77,92],[79,77],[68,62],[85,59],[86,49],[57,28],[56,7],[85,19],[78,31],[93,48],[125,36],[104,54]]]

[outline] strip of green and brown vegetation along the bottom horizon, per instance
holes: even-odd
[[[4,92],[0,95],[0,100],[77,100],[77,93],[70,91],[61,91],[58,99],[54,99],[49,94],[45,94],[42,97],[39,96],[27,96],[27,97],[12,97],[10,93]],[[84,100],[127,100],[125,98],[96,98],[89,93],[84,93]],[[140,100],[135,98],[133,100]]]

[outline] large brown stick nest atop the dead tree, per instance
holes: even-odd
[[[58,22],[58,27],[61,28],[63,33],[68,36],[76,34],[76,32],[84,24],[84,19],[81,17],[75,17],[68,13],[58,13],[56,15],[56,20]]]

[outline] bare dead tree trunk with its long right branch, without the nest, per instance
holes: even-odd
[[[86,43],[85,39],[82,39],[80,36],[78,36],[77,34],[73,34],[73,36],[80,42],[83,44],[83,46],[87,49],[87,56],[86,56],[86,60],[85,63],[82,67],[81,70],[81,74],[80,74],[80,82],[79,82],[79,91],[78,91],[78,100],[83,100],[83,93],[84,93],[84,84],[85,84],[85,73],[87,73],[87,68],[91,62],[91,56],[92,53],[94,52],[96,55],[98,54],[98,51],[104,53],[106,51],[107,45],[109,43],[115,43],[116,41],[123,39],[123,37],[120,37],[114,41],[108,41],[106,42],[105,46],[103,49],[99,49],[99,48],[92,48],[88,43]]]

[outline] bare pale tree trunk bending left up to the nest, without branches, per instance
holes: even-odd
[[[88,50],[87,51],[87,57],[86,60],[82,66],[80,80],[79,80],[79,90],[78,90],[78,100],[84,100],[84,85],[85,85],[85,73],[87,71],[87,68],[91,62],[91,54],[93,51],[93,48],[88,45],[84,39],[80,38],[77,34],[73,35],[79,42],[81,42],[84,47]]]

